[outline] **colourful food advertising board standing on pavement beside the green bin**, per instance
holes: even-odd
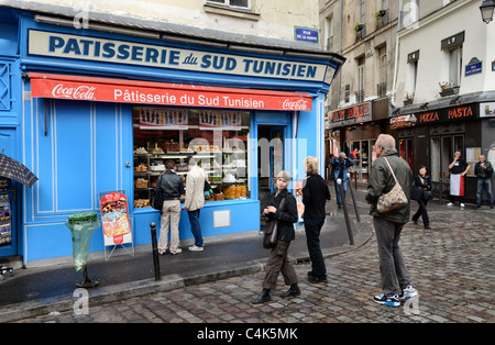
[[[120,192],[108,192],[100,199],[105,245],[132,243],[128,198]]]

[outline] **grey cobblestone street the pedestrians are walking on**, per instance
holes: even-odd
[[[306,280],[309,263],[296,265],[301,294],[253,307],[263,272],[158,292],[20,322],[138,323],[480,323],[495,321],[494,212],[450,209],[430,212],[432,230],[406,224],[400,247],[419,296],[399,308],[373,302],[381,293],[375,237],[326,260],[329,283]],[[362,221],[372,225],[366,215]],[[297,240],[296,240],[297,241]]]

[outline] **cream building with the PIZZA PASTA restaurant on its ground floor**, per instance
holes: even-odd
[[[400,155],[414,170],[428,167],[446,202],[455,149],[471,166],[468,202],[476,198],[479,156],[495,163],[495,25],[482,21],[480,5],[438,0],[402,7],[391,126]]]

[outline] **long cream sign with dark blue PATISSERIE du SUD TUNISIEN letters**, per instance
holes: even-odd
[[[319,82],[326,80],[328,67],[323,64],[219,54],[37,30],[29,31],[28,54],[97,63]],[[333,68],[328,68],[328,74],[333,74]]]

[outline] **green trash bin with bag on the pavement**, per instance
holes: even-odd
[[[68,216],[65,225],[73,235],[74,267],[76,271],[84,272],[84,281],[76,282],[79,288],[90,288],[99,285],[99,281],[88,277],[87,260],[89,246],[91,245],[92,232],[101,226],[97,212],[80,212]]]

